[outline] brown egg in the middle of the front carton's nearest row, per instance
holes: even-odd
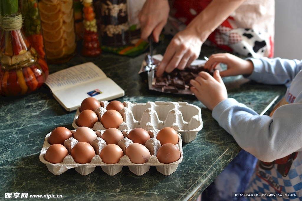
[[[116,144],[108,144],[101,150],[100,157],[104,163],[114,164],[124,155],[123,150]]]

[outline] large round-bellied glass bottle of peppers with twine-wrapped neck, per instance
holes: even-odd
[[[1,0],[0,8],[0,93],[5,96],[31,93],[47,79],[47,63],[21,30],[18,0]]]

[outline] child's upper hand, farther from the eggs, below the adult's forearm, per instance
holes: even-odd
[[[252,61],[246,61],[229,53],[211,55],[204,68],[211,71],[218,63],[227,65],[227,69],[220,72],[221,77],[252,74],[254,70]]]

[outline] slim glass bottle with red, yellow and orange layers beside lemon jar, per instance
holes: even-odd
[[[101,53],[101,48],[92,0],[83,0],[83,12],[85,31],[82,53],[84,56],[98,56]]]

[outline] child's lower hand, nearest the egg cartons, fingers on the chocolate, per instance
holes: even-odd
[[[216,70],[213,76],[201,71],[195,80],[190,81],[191,91],[210,110],[213,110],[218,103],[227,99],[226,87],[219,71]]]

